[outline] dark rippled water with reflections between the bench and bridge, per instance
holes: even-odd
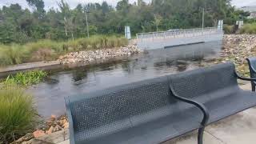
[[[65,114],[66,96],[192,70],[202,62],[218,57],[221,47],[222,42],[207,42],[150,50],[98,66],[63,67],[53,70],[49,80],[33,86],[30,91],[35,95],[39,114],[44,118],[51,114]]]

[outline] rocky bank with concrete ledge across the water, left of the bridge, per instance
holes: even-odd
[[[70,52],[60,56],[56,61],[28,62],[0,67],[0,78],[26,70],[56,70],[62,67],[74,68],[79,66],[97,65],[104,62],[111,62],[114,58],[130,57],[132,54],[141,52],[142,50],[138,50],[134,45],[113,49]]]

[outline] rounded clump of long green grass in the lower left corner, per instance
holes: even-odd
[[[10,143],[35,130],[38,112],[33,97],[17,87],[0,89],[0,143]]]

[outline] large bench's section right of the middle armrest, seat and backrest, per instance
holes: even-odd
[[[227,62],[170,75],[170,86],[178,96],[206,106],[210,124],[256,106],[256,93],[240,89],[238,78],[234,64]]]

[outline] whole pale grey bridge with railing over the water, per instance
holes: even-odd
[[[223,30],[219,27],[208,27],[141,33],[136,34],[136,36],[139,49],[154,50],[172,46],[222,41],[223,34]]]

